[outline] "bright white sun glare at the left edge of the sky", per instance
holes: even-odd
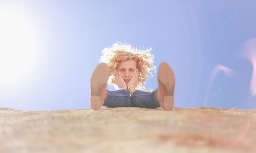
[[[29,76],[35,62],[35,35],[20,12],[0,8],[0,84]]]

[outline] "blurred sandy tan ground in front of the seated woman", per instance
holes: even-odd
[[[0,152],[256,152],[256,110],[0,108]]]

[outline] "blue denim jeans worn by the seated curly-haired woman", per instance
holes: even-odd
[[[136,90],[130,96],[130,94],[124,89],[116,91],[107,90],[103,106],[156,108],[160,107],[156,93],[157,91],[150,93]]]

